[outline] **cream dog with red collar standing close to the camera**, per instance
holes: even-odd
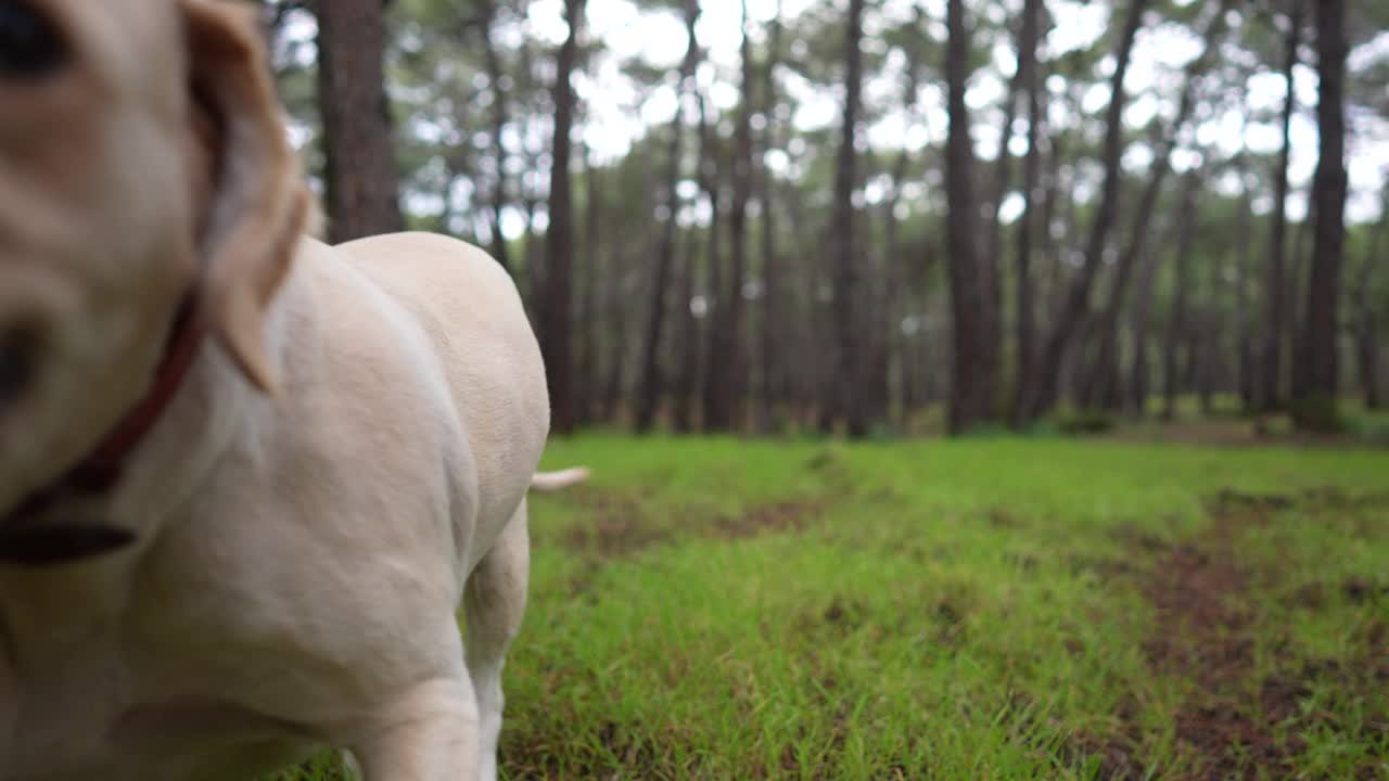
[[[496,775],[525,496],[583,472],[488,256],[301,238],[263,57],[229,0],[0,0],[3,781]]]

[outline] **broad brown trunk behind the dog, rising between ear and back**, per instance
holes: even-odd
[[[318,106],[332,243],[404,227],[385,88],[386,21],[381,0],[318,7]]]

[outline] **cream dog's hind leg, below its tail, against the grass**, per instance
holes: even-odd
[[[478,692],[481,746],[478,778],[497,777],[497,737],[501,734],[501,667],[525,614],[531,575],[531,538],[525,500],[501,529],[494,546],[468,577],[463,598],[468,627],[467,659]]]

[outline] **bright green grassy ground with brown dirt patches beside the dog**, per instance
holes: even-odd
[[[547,464],[594,477],[533,503],[510,778],[1389,778],[1386,452],[588,436]]]

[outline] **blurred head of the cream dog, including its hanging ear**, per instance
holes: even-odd
[[[190,293],[268,389],[308,207],[251,3],[0,0],[0,514],[139,400]]]

